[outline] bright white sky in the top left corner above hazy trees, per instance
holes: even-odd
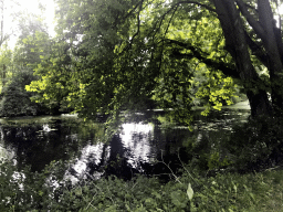
[[[7,7],[7,13],[4,13],[4,31],[8,33],[13,25],[17,23],[13,23],[11,20],[11,17],[9,13],[11,11],[25,11],[27,13],[32,12],[35,14],[41,14],[41,10],[39,9],[39,2],[42,3],[46,8],[45,13],[41,14],[43,18],[45,18],[45,23],[48,23],[49,26],[49,33],[51,36],[55,34],[54,32],[54,12],[55,12],[55,4],[53,0],[15,0],[15,2],[19,2],[20,6],[15,6],[14,3],[11,3],[11,0],[4,0],[4,3],[8,4]],[[9,6],[11,4],[12,8]],[[17,38],[11,38],[9,41],[9,46],[13,47],[17,42]]]

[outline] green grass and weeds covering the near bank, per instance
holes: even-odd
[[[56,178],[57,167],[53,163],[43,173],[29,174],[15,182],[11,180],[14,168],[2,165],[0,211],[283,211],[280,168],[214,177],[187,168],[182,176],[172,176],[166,184],[155,177],[138,176],[130,181],[112,177],[52,190],[44,181],[50,174]],[[24,183],[23,189],[19,183]],[[192,191],[190,200],[188,194],[191,197]]]

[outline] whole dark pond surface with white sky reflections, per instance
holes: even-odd
[[[102,124],[86,124],[76,116],[44,116],[0,119],[0,157],[14,159],[19,169],[31,166],[41,171],[51,161],[70,162],[65,178],[116,174],[129,179],[134,173],[158,174],[169,172],[158,162],[164,160],[172,169],[189,160],[186,146],[191,140],[213,148],[231,132],[234,124],[249,116],[248,109],[222,109],[209,117],[196,116],[193,130],[164,121],[154,113],[148,119],[137,114],[140,121],[125,121],[108,144],[99,142],[104,135]],[[179,157],[177,155],[179,152]]]

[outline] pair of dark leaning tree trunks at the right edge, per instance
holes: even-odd
[[[227,51],[232,55],[237,73],[247,89],[252,115],[270,115],[272,113],[271,105],[268,99],[266,91],[262,88],[264,83],[261,82],[261,78],[255,72],[249,52],[250,47],[258,60],[266,65],[271,82],[273,106],[280,107],[282,105],[282,86],[276,85],[277,82],[275,82],[274,75],[282,72],[282,65],[280,65],[282,62],[279,61],[281,57],[279,49],[282,44],[282,36],[280,32],[279,40],[275,40],[274,32],[277,29],[273,23],[273,13],[270,2],[268,0],[259,0],[258,11],[251,4],[245,4],[242,0],[214,0],[213,3],[226,36]],[[240,10],[237,9],[237,6]],[[250,10],[259,17],[258,21],[252,13],[249,12],[249,6],[251,8]],[[240,12],[252,28],[252,32],[248,32],[248,26],[244,25]],[[254,33],[255,38],[261,41],[256,42],[252,40],[251,33]],[[273,52],[275,52],[275,54],[273,54]],[[272,65],[271,63],[275,64]],[[279,80],[281,80],[281,77],[279,77]]]

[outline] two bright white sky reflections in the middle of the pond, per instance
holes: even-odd
[[[118,134],[118,138],[122,142],[122,148],[125,150],[124,156],[127,158],[127,162],[132,168],[138,168],[138,161],[149,162],[150,144],[149,140],[153,137],[153,125],[149,124],[136,124],[127,123],[122,125],[123,130]],[[82,149],[82,155],[76,159],[72,166],[72,171],[67,171],[65,178],[72,182],[77,182],[78,179],[85,178],[88,174],[87,163],[90,160],[97,165],[102,165],[102,160],[107,162],[111,158],[111,152],[115,152],[116,149],[111,151],[112,146],[103,148],[104,144],[88,145]],[[105,151],[105,152],[103,152]],[[104,153],[104,158],[103,158]],[[102,165],[103,166],[103,165]],[[93,179],[99,178],[104,172],[95,171],[92,176]]]

